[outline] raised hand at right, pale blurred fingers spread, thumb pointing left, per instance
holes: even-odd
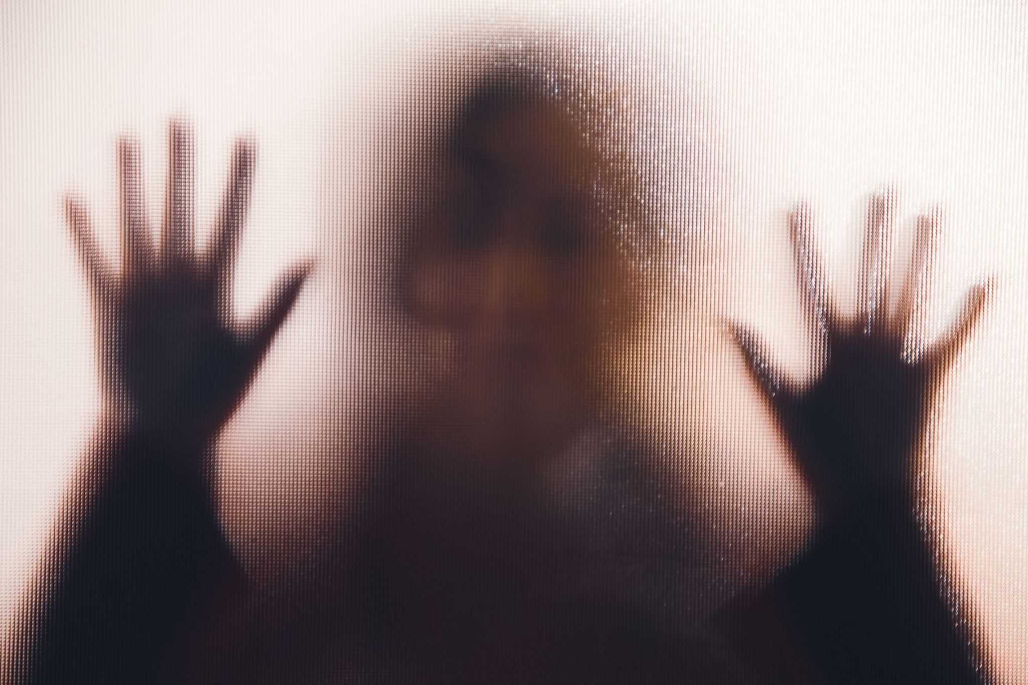
[[[751,377],[791,443],[815,496],[829,509],[876,493],[910,494],[915,454],[934,395],[986,300],[971,288],[949,331],[925,344],[924,299],[938,219],[919,217],[914,259],[900,303],[889,312],[894,201],[871,200],[855,316],[831,301],[806,207],[790,217],[800,290],[823,369],[807,387],[770,361],[756,334],[733,325]]]

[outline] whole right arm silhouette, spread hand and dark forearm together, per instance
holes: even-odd
[[[871,203],[852,318],[827,298],[806,212],[792,216],[805,309],[823,365],[808,387],[784,379],[758,338],[734,329],[821,517],[815,540],[767,599],[825,682],[980,683],[970,636],[957,627],[956,607],[940,584],[945,569],[918,520],[916,482],[935,394],[986,290],[971,289],[950,332],[924,345],[935,220],[918,222],[913,264],[890,315],[892,211],[887,197]]]

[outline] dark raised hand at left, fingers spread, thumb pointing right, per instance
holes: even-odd
[[[99,367],[110,408],[134,428],[204,444],[242,401],[289,314],[309,265],[293,267],[254,320],[232,316],[232,279],[250,200],[252,144],[235,145],[210,246],[194,239],[193,140],[173,121],[163,220],[154,244],[141,191],[137,144],[118,146],[121,268],[101,256],[83,205],[67,200],[68,224],[89,282]]]

